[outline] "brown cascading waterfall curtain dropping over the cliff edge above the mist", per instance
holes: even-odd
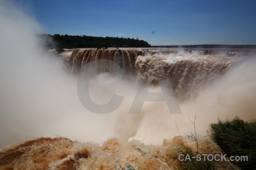
[[[68,62],[72,73],[77,74],[90,61],[110,59],[125,73],[137,75],[139,82],[159,84],[168,79],[170,88],[183,101],[224,74],[237,61],[234,54],[212,50],[74,49]]]

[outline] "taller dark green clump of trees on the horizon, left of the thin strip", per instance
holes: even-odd
[[[122,37],[93,37],[70,35],[39,35],[46,48],[105,48],[108,47],[150,47],[146,41]]]

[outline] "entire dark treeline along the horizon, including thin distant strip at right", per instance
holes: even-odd
[[[123,38],[123,37],[94,37],[94,36],[71,36],[71,35],[49,35],[40,34],[43,39],[44,47],[48,49],[64,48],[109,48],[109,47],[135,47],[135,48],[251,48],[255,49],[256,45],[220,45],[220,44],[203,44],[203,45],[163,45],[151,46],[144,40]]]

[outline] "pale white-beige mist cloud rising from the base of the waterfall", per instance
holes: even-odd
[[[162,143],[164,138],[192,130],[189,118],[196,113],[196,130],[206,134],[217,117],[255,118],[256,60],[244,57],[224,75],[180,103],[182,114],[172,114],[166,102],[144,102],[140,114],[129,114],[139,88],[136,77],[97,75],[89,82],[93,101],[105,104],[113,94],[124,97],[113,113],[96,114],[80,103],[78,76],[65,70],[61,59],[42,50],[42,31],[32,16],[11,1],[0,2],[0,147],[32,137],[68,137],[103,142],[110,137]],[[162,91],[163,87],[151,87]],[[168,95],[167,93],[163,93]],[[139,107],[139,106],[138,106]]]

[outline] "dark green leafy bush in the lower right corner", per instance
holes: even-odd
[[[239,117],[210,124],[208,134],[227,156],[248,156],[248,161],[236,162],[243,169],[256,169],[256,121]]]

